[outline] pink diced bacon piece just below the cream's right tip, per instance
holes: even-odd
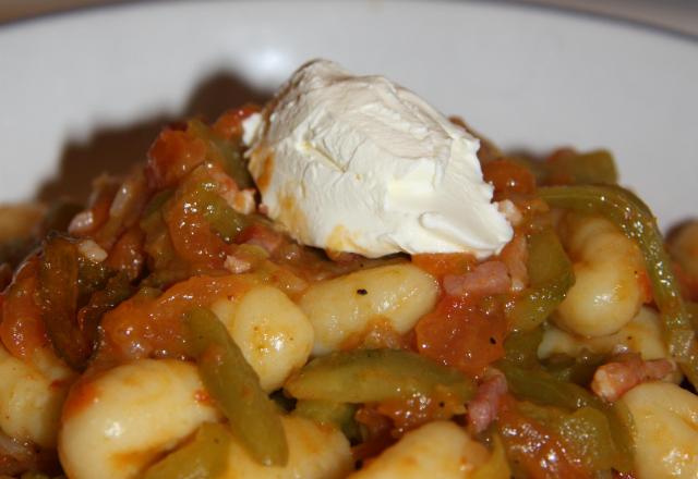
[[[502,261],[485,261],[466,274],[445,275],[443,285],[452,296],[489,296],[508,292],[512,278]]]

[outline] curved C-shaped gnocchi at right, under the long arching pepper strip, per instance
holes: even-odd
[[[638,274],[645,267],[639,248],[602,217],[568,214],[562,230],[576,282],[554,321],[582,336],[617,332],[642,305]]]

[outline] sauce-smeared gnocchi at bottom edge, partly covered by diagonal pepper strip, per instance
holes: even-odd
[[[349,441],[339,430],[298,416],[284,416],[281,423],[289,447],[286,466],[262,466],[233,441],[221,479],[339,479],[352,470]]]

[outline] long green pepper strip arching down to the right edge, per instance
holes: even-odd
[[[617,186],[550,186],[539,188],[549,205],[583,213],[600,213],[637,242],[661,312],[664,340],[694,386],[698,386],[698,343],[681,297],[662,235],[650,209]]]

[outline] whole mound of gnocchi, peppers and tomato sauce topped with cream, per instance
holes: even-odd
[[[698,224],[606,151],[315,61],[0,229],[0,476],[698,477]]]

